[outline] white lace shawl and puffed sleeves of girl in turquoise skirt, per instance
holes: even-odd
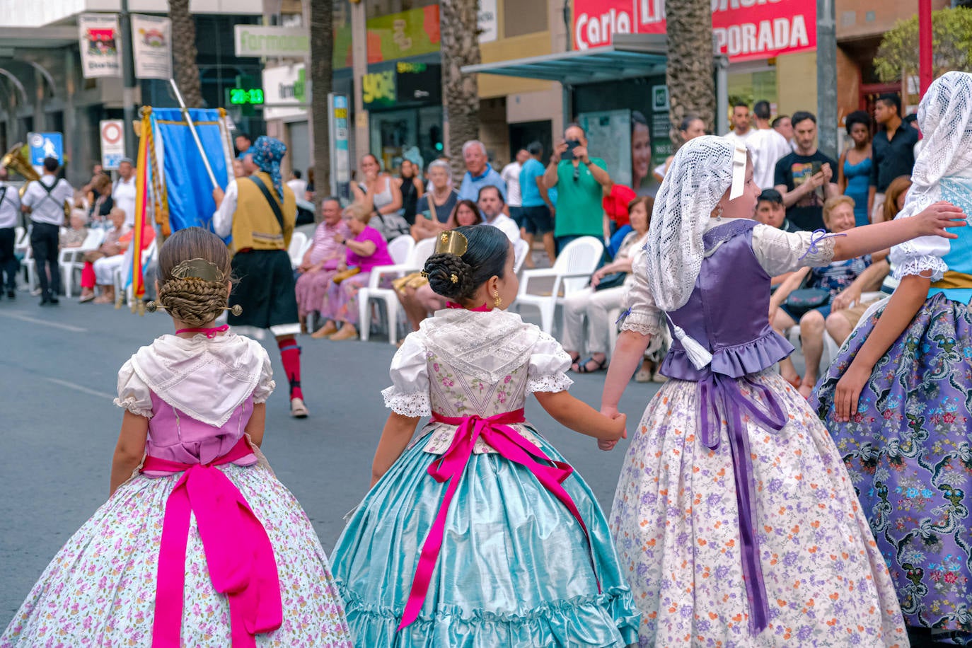
[[[385,406],[402,416],[432,415],[428,353],[457,370],[490,383],[529,358],[527,392],[563,392],[573,381],[571,357],[556,340],[516,313],[443,310],[405,338],[389,373],[392,386],[381,393]]]

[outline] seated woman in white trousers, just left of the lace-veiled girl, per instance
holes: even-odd
[[[631,261],[644,244],[648,233],[648,200],[636,198],[628,206],[632,231],[624,238],[614,260],[599,268],[591,276],[591,286],[574,292],[564,301],[564,350],[571,356],[571,368],[578,373],[601,371],[608,365],[608,331],[613,325],[608,312],[621,305],[631,276]],[[616,273],[626,273],[623,283],[611,288],[599,288],[601,282]],[[585,326],[586,319],[586,326]],[[585,344],[586,342],[586,344]],[[581,361],[581,350],[586,346],[588,358]]]

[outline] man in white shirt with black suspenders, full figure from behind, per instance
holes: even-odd
[[[56,157],[44,158],[44,175],[27,185],[20,205],[20,211],[30,214],[30,251],[37,263],[41,306],[57,303],[57,293],[60,292],[58,233],[64,224],[64,203],[74,196],[74,188],[63,178],[57,180],[54,175],[57,167]]]

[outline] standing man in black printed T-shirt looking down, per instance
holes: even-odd
[[[823,202],[840,194],[832,182],[837,161],[816,150],[816,117],[793,114],[796,148],[777,162],[774,184],[783,196],[786,218],[805,231],[823,229]]]

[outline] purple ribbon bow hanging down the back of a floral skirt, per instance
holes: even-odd
[[[700,435],[702,443],[715,450],[719,446],[719,427],[725,415],[729,432],[729,448],[732,451],[733,476],[736,482],[736,504],[739,508],[739,531],[742,546],[743,579],[746,597],[752,610],[750,625],[756,633],[769,624],[770,605],[763,582],[763,570],[759,564],[759,537],[756,529],[756,509],[753,496],[756,491],[752,476],[752,456],[749,437],[744,426],[744,416],[752,417],[759,425],[780,431],[786,425],[786,415],[776,396],[764,385],[742,378],[753,392],[759,392],[767,403],[764,412],[751,397],[740,390],[737,379],[711,374],[699,381],[702,396]]]

